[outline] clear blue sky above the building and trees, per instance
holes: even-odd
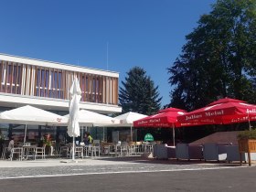
[[[216,0],[1,0],[0,52],[126,72],[140,66],[170,101],[167,68]],[[108,63],[107,65],[107,44]]]

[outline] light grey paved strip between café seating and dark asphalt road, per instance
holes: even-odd
[[[37,161],[0,161],[0,179],[35,176],[91,175],[118,172],[158,172],[173,170],[201,170],[233,168],[239,164],[151,160],[142,157],[84,159],[78,163],[61,163],[59,159]]]

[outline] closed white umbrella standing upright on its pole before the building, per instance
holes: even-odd
[[[73,80],[72,86],[69,90],[69,123],[68,134],[73,137],[72,160],[75,160],[75,137],[80,136],[79,112],[80,112],[80,83],[77,77]]]

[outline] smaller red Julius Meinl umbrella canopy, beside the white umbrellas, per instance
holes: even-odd
[[[173,125],[178,127],[180,123],[177,123],[177,116],[185,113],[186,111],[184,110],[167,108],[160,110],[154,115],[134,121],[133,127],[173,127]]]

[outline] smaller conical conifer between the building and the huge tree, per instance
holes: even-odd
[[[134,67],[127,72],[120,87],[119,101],[123,112],[152,114],[159,111],[162,97],[159,98],[158,86],[146,75],[144,69]]]

